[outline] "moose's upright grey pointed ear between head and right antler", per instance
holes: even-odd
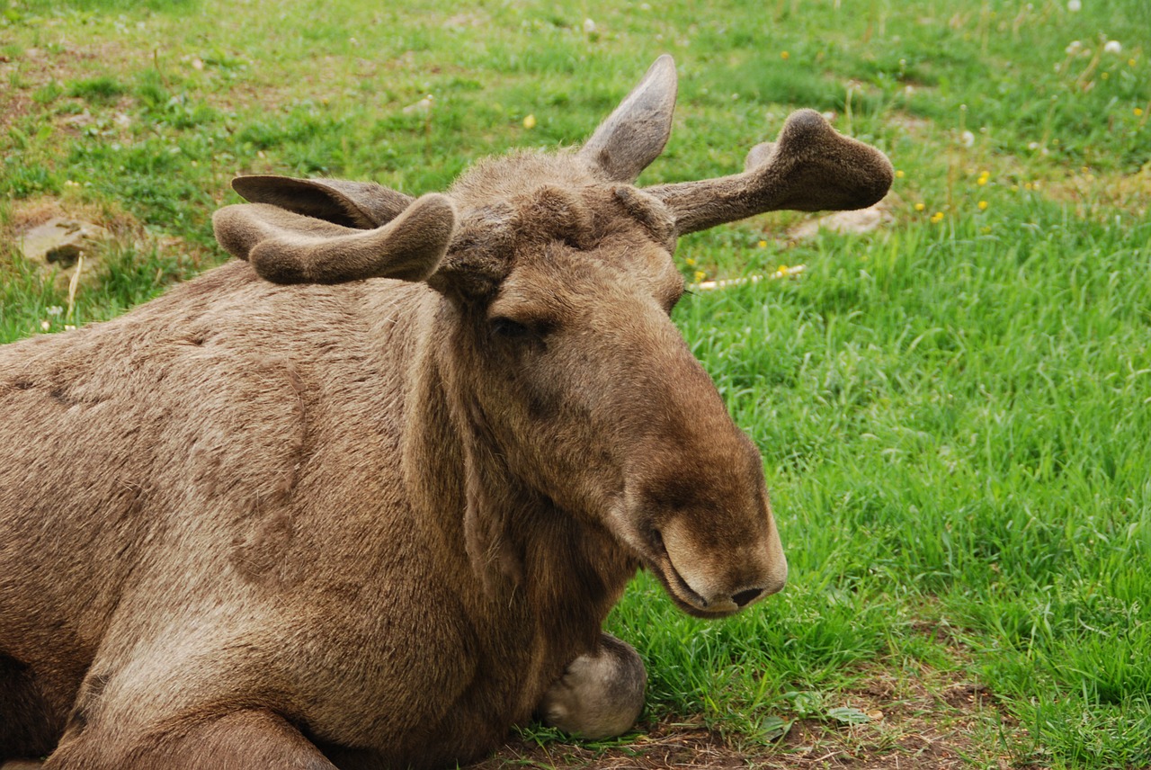
[[[600,124],[579,157],[601,169],[611,182],[634,182],[668,144],[676,89],[676,63],[664,54]]]

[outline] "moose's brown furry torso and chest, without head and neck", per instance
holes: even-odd
[[[196,718],[256,699],[318,741],[387,747],[386,765],[467,756],[531,716],[595,646],[635,562],[536,508],[517,523],[524,582],[579,580],[541,604],[563,630],[529,601],[496,613],[470,589],[444,516],[460,490],[439,475],[460,464],[457,443],[432,447],[450,427],[407,421],[445,416],[443,395],[397,371],[435,312],[418,284],[284,288],[236,262],[114,321],[3,349],[6,413],[29,424],[2,435],[30,472],[5,488],[5,587],[21,590],[3,595],[3,649],[9,668],[52,677],[17,694],[17,709],[43,703],[23,725],[40,732],[29,749],[51,750],[74,707],[78,738],[105,719],[127,731],[188,688]],[[334,330],[358,342],[334,344]],[[45,488],[69,491],[56,510],[92,516],[56,513]],[[350,650],[366,654],[350,663]]]

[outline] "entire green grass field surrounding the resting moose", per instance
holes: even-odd
[[[580,142],[661,53],[641,184],[833,113],[898,169],[879,229],[775,214],[677,254],[806,266],[676,312],[763,452],[787,589],[704,623],[641,574],[609,623],[639,732],[485,767],[1151,767],[1151,5],[1069,5],[3,0],[0,341],[221,261],[237,173],[441,190]],[[15,246],[59,212],[116,235],[71,293]]]

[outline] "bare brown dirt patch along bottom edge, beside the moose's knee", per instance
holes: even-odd
[[[920,676],[922,674],[922,676]],[[493,756],[466,770],[512,767],[571,770],[656,770],[658,768],[763,768],[764,770],[959,770],[1023,767],[1012,763],[1000,732],[1021,732],[980,683],[938,681],[930,671],[897,680],[876,673],[847,693],[837,707],[868,715],[864,724],[830,718],[795,719],[772,745],[724,738],[701,719],[639,725],[640,733],[611,748],[578,742],[535,742],[513,738]]]

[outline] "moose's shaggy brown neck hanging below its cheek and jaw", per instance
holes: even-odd
[[[414,518],[457,557],[452,579],[482,608],[475,617],[490,616],[504,643],[529,646],[539,665],[558,670],[595,647],[638,562],[604,527],[561,510],[504,466],[453,376],[460,364],[443,315],[425,327],[409,388],[404,474],[424,506]]]

